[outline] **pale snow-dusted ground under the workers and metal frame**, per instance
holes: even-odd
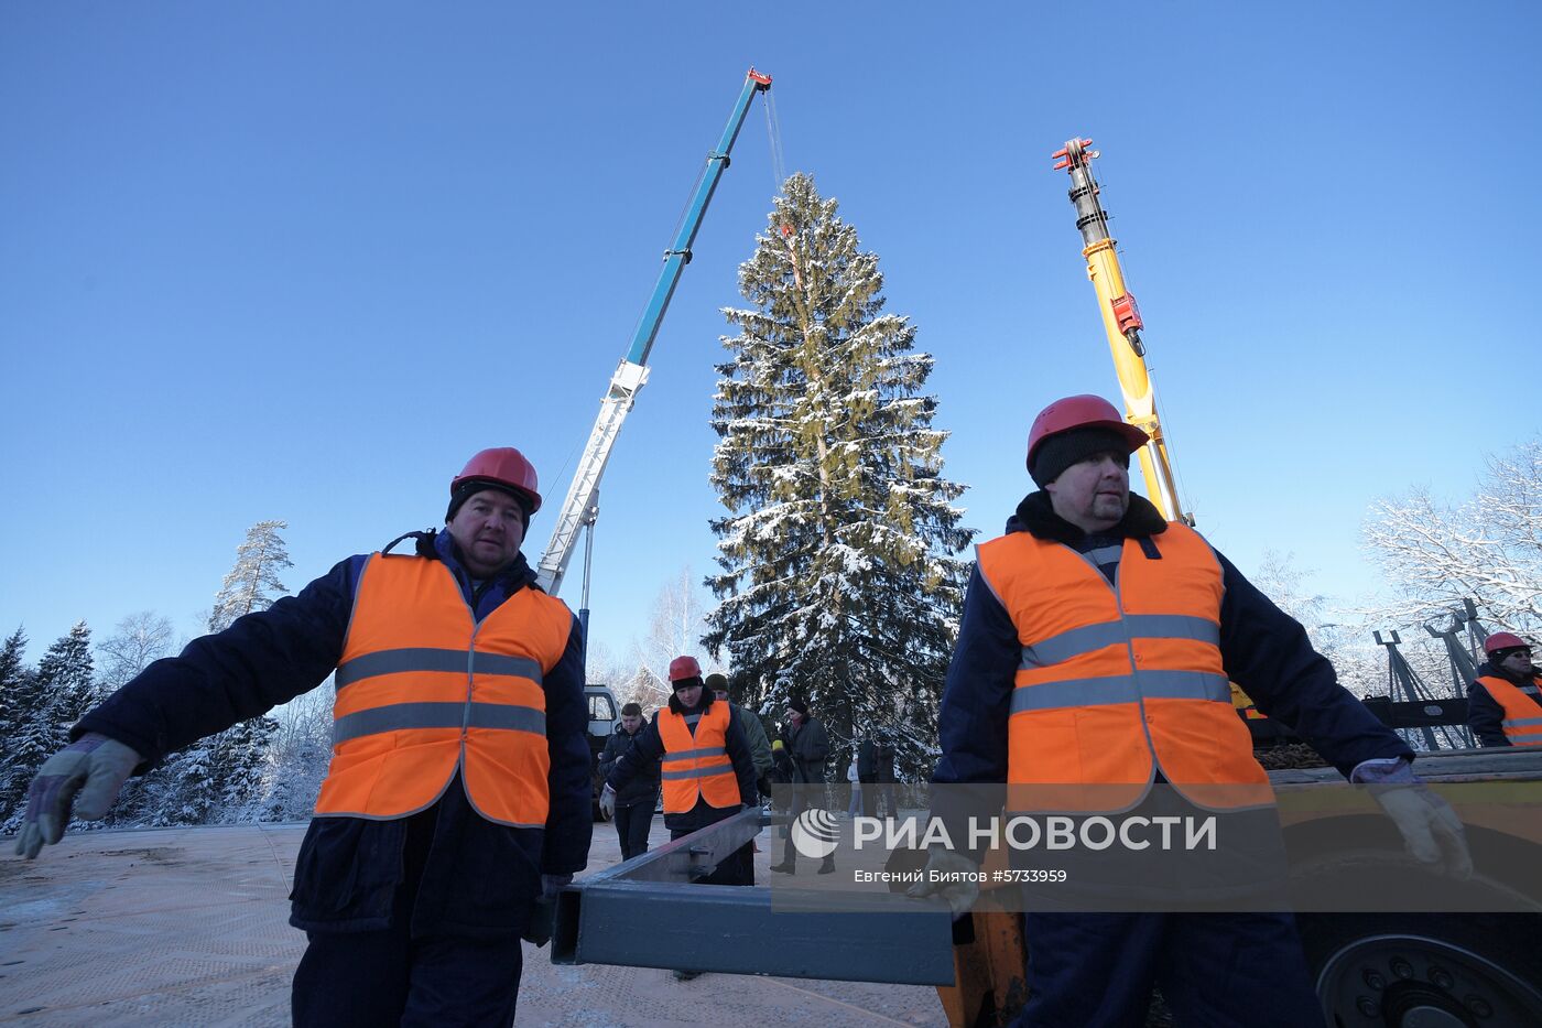
[[[0,1025],[288,1023],[285,923],[302,824],[85,832],[26,863],[0,840]],[[668,840],[658,820],[654,843]],[[765,881],[773,857],[762,837]],[[595,826],[589,869],[620,858]],[[526,948],[520,1025],[945,1025],[930,988],[557,968]],[[706,1000],[706,1002],[703,1002]]]

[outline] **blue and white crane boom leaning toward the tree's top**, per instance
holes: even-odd
[[[541,560],[537,565],[535,580],[552,596],[557,596],[557,591],[561,588],[580,529],[588,525],[592,531],[594,519],[598,512],[600,477],[611,460],[611,448],[621,431],[621,423],[626,420],[628,412],[631,412],[638,391],[648,383],[648,352],[658,336],[658,326],[663,324],[665,312],[669,309],[669,298],[674,296],[675,286],[680,284],[680,273],[691,262],[691,244],[702,227],[702,218],[706,215],[708,204],[712,202],[717,181],[723,178],[723,168],[729,164],[728,154],[734,148],[734,140],[739,139],[739,130],[743,128],[745,116],[749,113],[749,102],[756,93],[765,93],[769,88],[771,76],[763,76],[754,68],[745,76],[745,86],[739,93],[739,100],[736,100],[732,113],[728,116],[728,125],[723,128],[717,147],[706,154],[706,167],[695,184],[695,190],[691,193],[691,201],[686,204],[685,218],[680,221],[680,232],[675,233],[669,249],[665,250],[665,265],[658,272],[658,281],[654,284],[654,293],[648,299],[648,307],[643,309],[643,316],[637,323],[632,346],[626,357],[621,358],[615,374],[611,375],[611,389],[600,401],[600,417],[595,418],[594,429],[589,432],[589,441],[584,445],[583,457],[578,458],[578,468],[574,471],[574,480],[567,488],[567,499],[563,500],[557,526],[552,529],[552,539],[546,543],[546,553],[541,554]]]

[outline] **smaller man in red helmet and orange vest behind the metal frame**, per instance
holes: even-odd
[[[654,715],[611,769],[600,792],[600,809],[614,810],[615,795],[645,767],[660,761],[665,827],[669,838],[717,824],[759,801],[756,764],[739,719],[726,701],[717,699],[702,679],[694,656],[669,662],[674,692],[669,705]],[[754,840],[719,863],[705,884],[754,884]],[[697,977],[675,971],[680,980]]]

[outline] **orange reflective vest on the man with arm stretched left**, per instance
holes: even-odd
[[[572,613],[523,588],[480,624],[438,560],[372,554],[338,662],[322,817],[389,821],[432,806],[461,773],[489,821],[546,824],[543,676]]]

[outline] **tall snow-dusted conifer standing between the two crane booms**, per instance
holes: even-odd
[[[794,174],[740,265],[752,309],[725,310],[712,428],[720,605],[703,642],[728,650],[745,705],[803,696],[845,749],[896,742],[919,772],[936,747],[973,537],[942,477],[947,434],[922,387],[931,358],[884,313],[877,256],[813,179]]]

